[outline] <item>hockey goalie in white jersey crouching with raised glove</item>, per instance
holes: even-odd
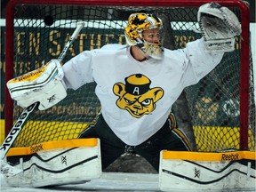
[[[65,147],[58,145],[58,148],[44,150],[48,145],[44,143],[42,148],[37,146],[39,150],[30,151],[29,161],[25,161],[22,154],[16,166],[23,172],[12,176],[15,182],[10,179],[9,183],[40,187],[63,184],[68,178],[93,180],[119,156],[134,153],[144,157],[159,172],[161,189],[169,190],[169,183],[180,189],[183,181],[172,182],[175,174],[172,169],[183,170],[183,167],[179,166],[180,162],[173,165],[163,153],[166,150],[193,152],[188,152],[191,145],[176,124],[172,104],[185,87],[197,84],[218,66],[225,52],[234,51],[235,37],[241,33],[236,15],[220,4],[202,5],[197,20],[203,37],[189,42],[182,50],[172,51],[161,44],[162,20],[153,13],[135,12],[124,28],[127,44],[107,44],[81,52],[63,67],[59,60],[52,60],[43,68],[9,81],[12,99],[23,108],[35,102],[39,102],[40,110],[51,108],[66,97],[67,89],[77,90],[92,82],[97,84],[95,93],[101,104],[99,116],[79,134],[76,145],[61,142]],[[93,138],[97,142],[88,146],[88,140]],[[87,145],[79,146],[80,143]],[[9,156],[16,154],[13,150],[10,152]],[[67,165],[67,162],[74,163]],[[58,180],[50,182],[47,178],[53,178],[55,173]],[[190,180],[187,172],[180,174]]]

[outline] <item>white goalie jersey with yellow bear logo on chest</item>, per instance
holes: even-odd
[[[204,52],[204,40],[183,50],[164,49],[163,60],[135,60],[127,45],[85,51],[64,64],[64,82],[77,89],[95,81],[101,113],[126,144],[136,146],[165,123],[180,93],[215,68],[223,52]]]

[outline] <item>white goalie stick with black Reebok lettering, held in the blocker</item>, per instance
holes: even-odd
[[[66,53],[68,51],[68,48],[71,44],[73,44],[73,42],[75,41],[77,35],[80,33],[81,29],[84,28],[84,21],[78,22],[75,31],[73,32],[72,36],[70,37],[68,43],[65,45],[65,47],[63,48],[62,52],[60,53],[60,56],[58,57],[58,60],[61,62],[64,57],[66,56]],[[6,136],[3,144],[1,145],[0,148],[0,154],[1,154],[1,172],[3,172],[4,174],[8,174],[8,168],[12,167],[9,164],[4,162],[4,157],[6,156],[7,152],[9,151],[9,149],[12,147],[12,144],[14,142],[14,140],[16,140],[16,138],[18,137],[18,135],[20,134],[20,131],[23,127],[23,125],[25,124],[29,114],[31,114],[35,108],[37,108],[39,106],[39,102],[35,102],[32,105],[28,106],[28,108],[25,108],[22,113],[20,114],[20,116],[18,117],[18,120],[16,122],[16,124],[14,124],[12,126],[12,130],[8,133],[8,135]],[[8,166],[9,165],[9,166]],[[4,171],[4,166],[5,166],[5,171]],[[8,168],[7,168],[8,167]],[[13,167],[14,168],[14,167]],[[11,173],[11,172],[9,172]],[[12,174],[12,173],[11,173]]]

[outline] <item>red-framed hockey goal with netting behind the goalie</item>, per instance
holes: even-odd
[[[242,1],[221,0],[236,13],[242,35],[236,38],[236,51],[227,52],[220,65],[198,84],[186,88],[196,145],[199,151],[228,148],[255,149],[255,103],[252,60],[249,47],[249,9]],[[6,82],[39,68],[59,56],[76,27],[85,28],[69,48],[65,61],[84,50],[104,44],[125,44],[124,27],[132,12],[154,12],[167,18],[164,38],[182,48],[200,38],[189,25],[197,28],[198,7],[205,0],[11,0],[6,10]],[[169,24],[170,25],[169,25]],[[189,24],[189,25],[188,25]],[[168,39],[164,39],[168,41]],[[20,132],[14,147],[30,146],[50,140],[77,137],[100,111],[94,93],[95,84],[85,84],[76,92],[45,111],[36,111]],[[22,108],[12,102],[5,90],[5,133]]]

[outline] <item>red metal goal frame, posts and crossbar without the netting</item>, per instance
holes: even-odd
[[[17,4],[79,4],[79,5],[99,5],[99,6],[156,6],[156,7],[199,7],[212,1],[209,0],[11,0],[6,7],[6,38],[5,42],[5,83],[13,78],[13,55],[14,55],[14,12]],[[250,65],[250,11],[241,0],[216,0],[222,6],[232,6],[239,8],[241,12],[241,70],[240,70],[240,149],[248,149],[249,132],[249,65]],[[13,124],[13,101],[5,86],[5,136],[12,129]],[[8,108],[8,110],[6,110]],[[15,119],[14,119],[15,121]]]

